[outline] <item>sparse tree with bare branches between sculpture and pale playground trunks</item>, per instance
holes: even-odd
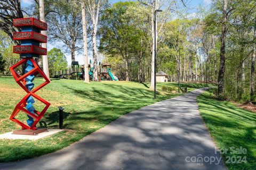
[[[71,61],[75,61],[75,52],[81,49],[82,16],[81,8],[74,5],[74,1],[53,1],[53,12],[47,15],[49,23],[50,41],[63,43],[63,47],[71,53]],[[58,43],[60,44],[60,43]]]

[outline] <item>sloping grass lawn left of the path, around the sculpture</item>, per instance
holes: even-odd
[[[37,79],[35,84],[43,82]],[[42,90],[36,92],[39,97],[49,101],[51,106],[45,113],[38,127],[58,129],[58,106],[65,108],[63,126],[66,131],[54,134],[37,141],[0,140],[0,162],[12,162],[40,156],[67,147],[118,117],[164,100],[178,94],[161,90],[162,86],[177,87],[177,83],[157,84],[157,100],[153,99],[153,91],[148,89],[149,83],[122,81],[91,82],[85,84],[78,80],[52,80]],[[188,90],[204,87],[205,84],[181,84]],[[177,88],[176,88],[177,90]],[[26,95],[12,77],[0,77],[0,133],[20,129],[20,126],[9,120],[16,104]],[[43,105],[35,103],[40,111]],[[17,115],[24,122],[26,114]]]

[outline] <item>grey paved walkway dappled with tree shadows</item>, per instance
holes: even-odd
[[[203,91],[143,107],[65,149],[0,169],[226,169],[198,113]]]

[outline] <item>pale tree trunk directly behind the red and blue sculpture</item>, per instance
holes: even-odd
[[[45,22],[45,19],[44,19],[44,0],[39,0],[39,14],[40,14],[40,20]],[[41,31],[41,33],[46,36],[46,31]],[[42,43],[41,46],[43,48],[47,48],[47,44],[46,43]],[[42,57],[43,57],[43,70],[44,70],[44,73],[47,76],[47,78],[50,79],[49,66],[48,66],[48,56],[47,55],[43,55]]]

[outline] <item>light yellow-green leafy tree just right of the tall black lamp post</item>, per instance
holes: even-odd
[[[175,75],[172,78],[173,81],[178,80],[177,73],[178,70],[181,72],[181,65],[179,67],[179,53],[180,56],[180,63],[183,63],[183,72],[182,77],[185,81],[186,77],[186,62],[189,62],[189,70],[190,75],[192,73],[191,67],[193,66],[193,57],[187,57],[191,55],[195,55],[193,49],[193,42],[191,38],[191,33],[193,23],[196,23],[195,20],[187,20],[187,19],[175,19],[173,21],[166,22],[163,27],[163,32],[159,34],[159,37],[164,37],[164,40],[159,45],[158,50],[158,64],[159,69],[162,71],[165,71],[166,73],[169,73],[171,75]],[[188,41],[190,40],[190,41]],[[194,39],[193,39],[194,40]],[[186,50],[188,48],[189,50]],[[194,54],[191,54],[191,53]],[[183,57],[182,57],[183,56]],[[186,60],[187,58],[187,60]],[[182,61],[183,60],[183,61]],[[166,67],[170,66],[170,67]],[[174,66],[174,67],[172,67]]]

